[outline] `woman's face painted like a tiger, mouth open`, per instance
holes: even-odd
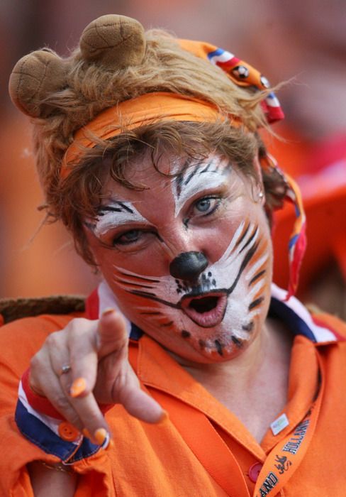
[[[108,181],[86,235],[123,313],[175,354],[232,359],[259,336],[269,305],[272,246],[255,181],[226,158],[145,156]]]

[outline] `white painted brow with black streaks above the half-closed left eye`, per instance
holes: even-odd
[[[101,205],[97,214],[96,223],[92,228],[96,236],[101,236],[109,229],[131,222],[148,223],[148,220],[133,207],[131,202],[112,200],[110,204]]]

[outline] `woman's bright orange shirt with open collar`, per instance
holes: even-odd
[[[26,318],[7,324],[1,330],[0,346],[4,351],[0,389],[0,437],[4,448],[1,497],[32,496],[26,464],[35,459],[50,463],[58,460],[21,435],[13,412],[18,381],[29,365],[30,356],[50,332],[65,327],[72,317]],[[318,315],[318,320],[346,336],[345,325],[336,318]],[[20,354],[18,344],[21,344]],[[266,466],[269,454],[274,449],[272,455],[275,456],[285,437],[288,437],[286,452],[282,454],[286,454],[286,459],[274,459],[277,466],[269,469],[280,479],[279,471],[282,477],[289,478],[281,493],[277,493],[274,486],[270,496],[345,495],[346,342],[315,344],[299,335],[294,339],[289,401],[284,409],[289,426],[278,435],[268,430],[261,444],[235,415],[149,337],[144,335],[138,342],[131,342],[130,361],[143,388],[168,411],[169,420],[160,425],[147,425],[125,413],[121,405],[114,405],[106,413],[106,419],[115,447],[107,452],[99,450],[74,463],[75,471],[83,475],[79,479],[77,497],[267,495],[265,488],[270,487],[270,480],[262,493],[256,494],[254,480],[259,474],[258,481],[265,481],[270,474]],[[297,426],[313,405],[319,368],[323,391],[319,394],[316,429],[304,457],[297,464],[295,457],[303,451],[305,435],[308,437],[305,425],[298,427],[298,431]]]

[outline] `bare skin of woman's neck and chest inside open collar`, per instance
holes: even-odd
[[[260,442],[286,405],[290,352],[289,332],[279,322],[267,320],[262,333],[235,359],[218,364],[179,363]]]

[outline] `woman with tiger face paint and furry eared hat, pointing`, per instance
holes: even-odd
[[[300,205],[289,295],[271,288],[272,209],[298,194],[259,138],[266,87],[122,16],[14,68],[47,212],[103,279],[79,315],[4,328],[6,495],[342,495],[342,324],[291,297]]]

